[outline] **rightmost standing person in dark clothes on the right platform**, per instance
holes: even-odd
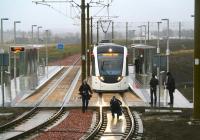
[[[168,103],[169,105],[174,104],[174,91],[175,91],[175,80],[170,72],[167,72],[167,80],[166,80],[166,88],[169,91],[169,97],[170,97],[170,102]]]

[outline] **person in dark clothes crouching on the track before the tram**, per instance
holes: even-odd
[[[119,119],[119,116],[122,115],[122,109],[121,109],[122,102],[117,99],[115,96],[112,97],[110,100],[110,108],[112,112],[113,118],[115,117],[115,113],[117,113],[117,118]]]

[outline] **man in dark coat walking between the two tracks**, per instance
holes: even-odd
[[[82,111],[84,113],[88,108],[88,103],[91,96],[89,92],[92,94],[92,90],[90,86],[87,84],[86,80],[84,80],[83,84],[80,86],[79,92],[82,96]]]

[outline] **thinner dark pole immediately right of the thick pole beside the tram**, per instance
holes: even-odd
[[[87,79],[90,76],[90,6],[87,3]]]

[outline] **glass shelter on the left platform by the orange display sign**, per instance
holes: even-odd
[[[11,79],[14,93],[24,93],[38,86],[40,76],[39,49],[44,45],[10,46]],[[45,65],[45,64],[44,64]],[[45,69],[45,66],[42,68]],[[11,80],[12,81],[12,80]]]

